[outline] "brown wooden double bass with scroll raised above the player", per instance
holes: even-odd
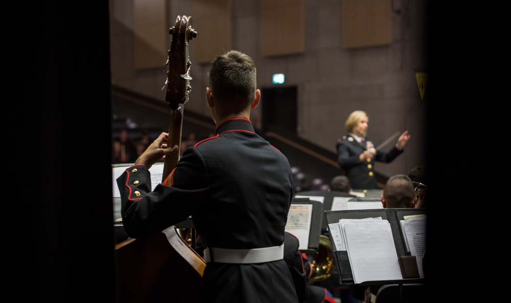
[[[191,91],[188,45],[197,32],[192,17],[178,15],[168,51],[165,100],[171,108],[168,146],[180,148],[183,105]],[[179,150],[166,156],[162,182],[179,161]],[[145,239],[128,239],[114,248],[117,270],[117,301],[198,302],[205,262],[178,234],[175,226]]]

